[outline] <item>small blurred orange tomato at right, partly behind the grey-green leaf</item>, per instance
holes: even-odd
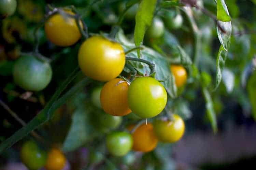
[[[171,65],[170,70],[175,78],[175,84],[177,87],[183,86],[187,81],[187,71],[182,66]]]

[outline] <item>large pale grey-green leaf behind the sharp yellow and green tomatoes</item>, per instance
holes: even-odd
[[[128,51],[134,48],[134,44],[129,42],[122,30],[116,34],[116,40],[122,45],[125,51]],[[130,52],[127,54],[128,57],[138,58],[136,52]],[[147,48],[143,46],[143,50],[141,50],[141,58],[147,61],[150,61],[155,64],[156,67],[156,76],[157,80],[163,80],[162,85],[166,88],[169,96],[171,98],[175,98],[177,96],[177,88],[174,82],[174,77],[170,72],[170,65],[165,57],[162,57],[158,52],[152,50],[151,48]],[[127,61],[132,67],[134,67],[139,74],[148,75],[150,73],[150,69],[148,65],[141,62]]]

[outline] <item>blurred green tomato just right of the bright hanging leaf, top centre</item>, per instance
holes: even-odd
[[[151,26],[147,29],[146,36],[147,38],[160,38],[163,33],[165,33],[165,25],[160,18],[155,17]]]

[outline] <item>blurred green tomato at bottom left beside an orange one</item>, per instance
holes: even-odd
[[[47,154],[33,141],[27,141],[20,150],[20,159],[29,169],[39,169],[46,163]]]

